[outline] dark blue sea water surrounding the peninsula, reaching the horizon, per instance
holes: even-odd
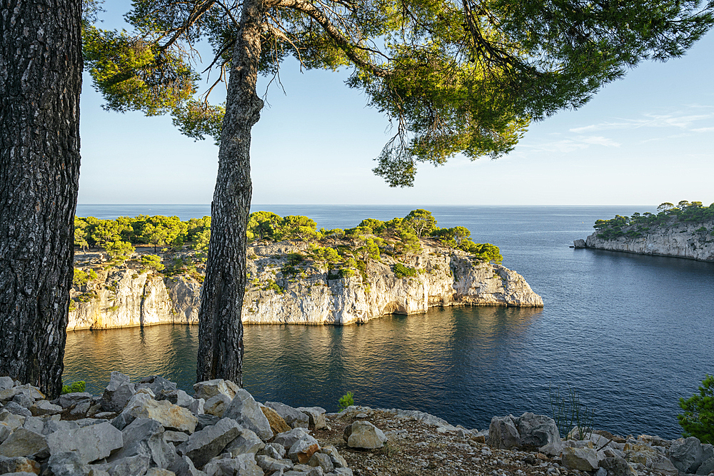
[[[151,208],[151,209],[149,209]],[[568,248],[598,218],[646,207],[253,206],[318,227],[428,208],[501,247],[503,264],[543,296],[542,310],[445,308],[364,325],[246,327],[244,383],[258,400],[322,405],[348,390],[361,405],[426,410],[466,427],[493,415],[548,414],[549,385],[574,388],[597,427],[680,433],[678,398],[714,373],[714,263]],[[203,216],[208,206],[79,206],[78,215]],[[98,393],[109,370],[160,373],[187,390],[197,329],[70,333],[65,380]]]

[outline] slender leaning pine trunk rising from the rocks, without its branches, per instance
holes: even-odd
[[[196,378],[223,378],[243,386],[243,293],[246,230],[251,209],[251,128],[263,101],[256,96],[264,0],[244,0],[233,49],[223,117],[218,177],[211,203],[211,241],[198,311]]]

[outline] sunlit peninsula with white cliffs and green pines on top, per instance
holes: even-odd
[[[149,228],[150,217],[137,218]],[[152,243],[121,240],[76,253],[68,330],[198,323],[207,220],[191,245],[157,244],[162,256]],[[307,217],[256,212],[248,239],[246,324],[346,325],[435,306],[543,306],[521,275],[499,264],[496,246],[473,243],[463,227],[438,228],[427,211],[320,231]]]

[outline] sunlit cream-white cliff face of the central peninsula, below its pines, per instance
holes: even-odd
[[[422,243],[421,253],[364,263],[338,273],[305,243],[250,247],[243,323],[345,325],[441,305],[543,306],[521,275],[461,250]],[[397,264],[412,275],[395,273]],[[168,278],[131,263],[97,274],[74,289],[68,330],[198,323],[201,285],[188,275]]]

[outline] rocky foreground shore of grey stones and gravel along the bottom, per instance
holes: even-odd
[[[543,415],[493,417],[488,430],[416,410],[256,402],[226,380],[193,396],[159,376],[111,373],[102,395],[48,401],[0,377],[0,475],[46,476],[684,476],[714,474],[694,437],[620,437]]]

